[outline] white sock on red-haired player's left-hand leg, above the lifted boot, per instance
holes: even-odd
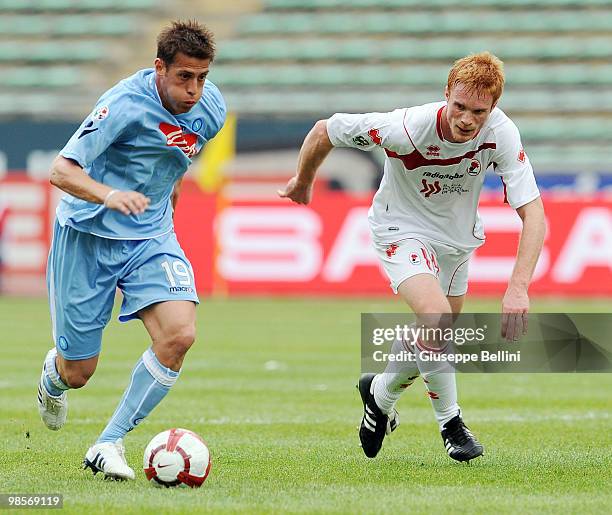
[[[391,354],[414,357],[411,347],[402,340],[395,340],[391,347]],[[372,381],[372,389],[376,405],[385,414],[395,408],[404,390],[419,377],[419,368],[416,361],[389,361],[382,374],[377,374]]]

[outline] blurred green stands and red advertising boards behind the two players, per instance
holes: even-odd
[[[0,1],[2,287],[44,290],[57,191],[50,160],[98,96],[150,66],[172,17],[217,34],[211,80],[232,118],[190,172],[178,232],[203,293],[388,293],[365,211],[381,156],[337,150],[315,202],[275,198],[312,125],[337,111],[439,100],[451,62],[488,49],[506,64],[500,107],[519,126],[546,199],[534,294],[612,292],[612,5],[604,0]],[[489,170],[488,243],[473,293],[503,292],[519,219]],[[506,206],[507,207],[507,206]]]

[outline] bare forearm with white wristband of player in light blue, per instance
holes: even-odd
[[[149,206],[150,200],[137,191],[114,190],[94,181],[72,159],[57,156],[51,165],[49,181],[62,191],[87,202],[104,204],[124,215],[139,214]]]

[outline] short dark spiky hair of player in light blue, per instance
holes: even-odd
[[[173,21],[157,36],[157,57],[170,65],[179,52],[196,59],[212,61],[215,58],[212,32],[196,20]]]

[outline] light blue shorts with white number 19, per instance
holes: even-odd
[[[168,300],[198,303],[191,264],[173,231],[149,240],[111,240],[55,222],[47,264],[53,340],[64,359],[100,353],[102,330],[123,293],[119,320]]]

